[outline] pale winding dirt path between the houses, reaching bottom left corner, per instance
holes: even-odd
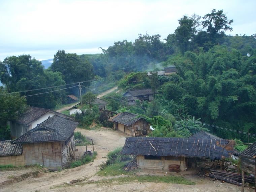
[[[126,137],[125,134],[109,128],[101,128],[96,131],[76,128],[75,131],[81,131],[86,137],[92,138],[95,142],[94,149],[97,151],[98,155],[94,162],[62,171],[42,173],[38,178],[31,178],[19,183],[4,186],[0,191],[56,191],[58,190],[56,186],[65,182],[90,178],[99,170],[98,166],[102,161],[106,160],[106,155],[109,151],[117,147],[123,147]],[[78,149],[78,153],[83,153],[86,147],[77,146],[76,148]],[[89,150],[92,150],[92,146],[89,146]],[[8,172],[5,171],[4,174],[8,175]],[[16,174],[19,173],[17,172]]]

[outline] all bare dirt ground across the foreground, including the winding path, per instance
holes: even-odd
[[[86,137],[92,138],[95,142],[95,151],[98,155],[94,162],[91,162],[80,167],[65,169],[62,171],[55,171],[49,173],[42,173],[37,178],[25,179],[21,182],[8,184],[1,187],[1,183],[10,178],[11,175],[17,176],[24,174],[25,170],[18,171],[0,171],[0,191],[11,191],[11,192],[27,192],[27,191],[61,191],[61,192],[70,192],[70,191],[175,191],[175,192],[231,192],[231,191],[241,191],[241,187],[228,184],[220,183],[215,181],[213,183],[208,178],[200,178],[194,175],[194,173],[187,172],[184,175],[184,172],[180,173],[171,173],[173,175],[183,174],[185,178],[194,181],[196,185],[179,185],[179,184],[167,184],[167,183],[111,183],[111,184],[77,184],[77,185],[64,185],[70,183],[73,180],[83,180],[87,181],[97,181],[102,178],[107,178],[103,176],[95,175],[99,170],[98,166],[106,158],[106,154],[109,151],[116,149],[117,147],[122,147],[125,142],[126,135],[114,131],[109,128],[100,128],[96,130],[85,130],[76,128],[76,131],[81,131]],[[82,154],[85,151],[85,146],[77,146],[79,154]],[[92,146],[89,146],[89,149],[92,150]],[[28,172],[32,170],[27,170]],[[156,172],[154,170],[143,170],[137,174],[158,174],[164,175],[164,172]],[[167,174],[170,174],[169,172]],[[11,176],[12,177],[12,176]],[[121,175],[120,177],[124,177]],[[62,187],[60,187],[62,186]],[[245,191],[254,191],[253,189],[246,188]]]

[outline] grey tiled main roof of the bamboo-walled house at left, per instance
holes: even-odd
[[[77,122],[55,115],[15,139],[13,143],[64,141],[73,134],[77,125]]]

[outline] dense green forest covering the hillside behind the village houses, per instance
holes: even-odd
[[[0,80],[4,84],[0,89],[4,109],[0,114],[1,130],[6,130],[10,118],[6,113],[11,111],[15,97],[22,100],[15,108],[19,113],[26,101],[31,106],[54,108],[65,103],[68,94],[77,95],[75,83],[84,82],[92,89],[118,84],[122,90],[157,91],[153,102],[138,102],[136,106],[127,107],[113,99],[121,99],[120,94],[105,98],[111,110],[147,116],[158,125],[154,136],[189,136],[195,130],[211,130],[225,138],[253,140],[206,124],[256,133],[256,34],[226,35],[225,31],[232,31],[234,21],[223,10],[213,9],[203,17],[185,15],[178,22],[174,33],[164,40],[159,34],[146,33],[139,34],[134,42],[114,42],[101,49],[101,54],[77,55],[58,50],[48,69],[29,55],[7,57],[0,62]],[[173,65],[177,68],[174,75],[148,77],[145,73]],[[129,81],[136,84],[129,85]],[[51,88],[40,90],[45,87]],[[54,90],[60,91],[51,92]],[[7,92],[20,92],[22,97]],[[49,93],[40,94],[44,92]],[[16,112],[10,112],[12,118]]]

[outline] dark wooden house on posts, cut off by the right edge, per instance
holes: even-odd
[[[245,172],[254,175],[256,186],[256,142],[250,145],[241,153],[241,168],[242,168],[242,192],[245,187]]]

